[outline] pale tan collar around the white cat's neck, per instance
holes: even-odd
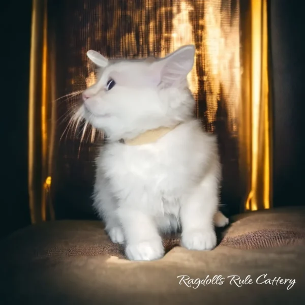
[[[170,131],[174,130],[179,124],[176,124],[173,127],[159,127],[157,129],[147,130],[144,133],[136,136],[135,138],[120,139],[119,142],[130,146],[154,143]]]

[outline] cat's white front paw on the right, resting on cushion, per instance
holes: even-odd
[[[182,232],[181,246],[189,250],[212,250],[217,243],[214,230]]]

